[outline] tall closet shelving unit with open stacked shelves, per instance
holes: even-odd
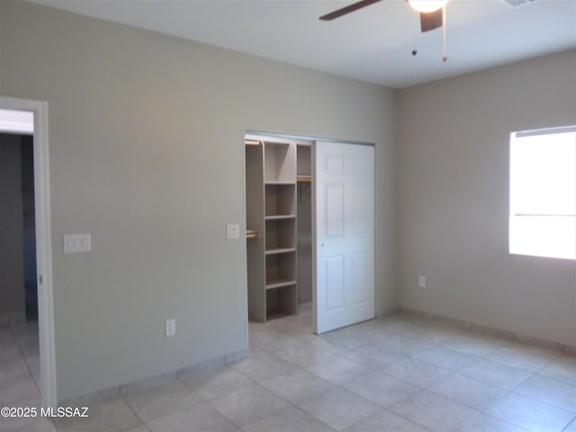
[[[298,310],[296,145],[245,143],[248,316],[265,322]]]

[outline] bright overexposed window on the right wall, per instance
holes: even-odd
[[[511,134],[509,253],[576,259],[576,126]]]

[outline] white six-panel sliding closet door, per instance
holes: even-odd
[[[374,147],[315,144],[316,333],[374,318]]]

